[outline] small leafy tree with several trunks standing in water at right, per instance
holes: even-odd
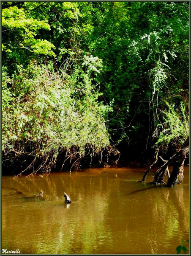
[[[164,112],[165,122],[161,124],[162,131],[156,143],[156,156],[158,156],[160,149],[166,150],[169,145],[175,147],[176,153],[172,155],[169,160],[164,161],[161,167],[156,171],[153,182],[159,184],[164,183],[163,179],[168,172],[168,165],[172,163],[172,160],[177,159],[167,182],[167,186],[174,186],[183,181],[183,166],[189,150],[189,110],[183,101],[177,109],[175,109],[174,105],[170,106],[168,103],[167,106],[169,110]],[[156,164],[157,160],[158,158],[156,158],[153,165]],[[153,165],[145,172],[142,181],[145,181]]]

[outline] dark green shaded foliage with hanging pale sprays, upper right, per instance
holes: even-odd
[[[177,63],[181,70],[189,63],[188,4],[92,3],[89,11],[94,28],[89,48],[103,60],[101,91],[107,103],[114,99],[109,131],[116,141],[134,141],[142,129],[146,138],[160,124],[166,98],[175,102],[174,95],[184,97],[183,90],[188,90],[188,77],[177,69]],[[155,121],[145,129],[149,118]]]

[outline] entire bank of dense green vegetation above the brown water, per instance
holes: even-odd
[[[5,169],[186,158],[188,3],[3,2]]]

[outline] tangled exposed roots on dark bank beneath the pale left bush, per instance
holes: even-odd
[[[92,165],[104,166],[104,163],[108,163],[110,155],[120,157],[120,152],[112,146],[106,146],[104,149],[95,149],[91,145],[86,145],[83,149],[78,146],[72,146],[71,148],[60,146],[57,150],[43,151],[42,153],[41,145],[42,141],[32,145],[23,142],[22,145],[21,143],[14,145],[12,149],[5,149],[3,163],[6,163],[6,166],[4,168],[12,169],[13,173],[16,173],[14,178],[23,174],[26,174],[26,177],[32,177],[37,173],[49,174],[52,170],[71,172],[84,166],[85,168]],[[17,148],[15,148],[16,146]],[[30,151],[27,152],[27,150]],[[19,172],[23,165],[25,168]]]

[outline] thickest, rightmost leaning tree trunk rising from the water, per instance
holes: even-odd
[[[184,142],[180,152],[178,152],[178,160],[173,166],[172,173],[167,182],[168,187],[175,186],[175,184],[180,184],[183,181],[184,172],[184,161],[186,159],[186,154],[189,150],[189,136]]]

